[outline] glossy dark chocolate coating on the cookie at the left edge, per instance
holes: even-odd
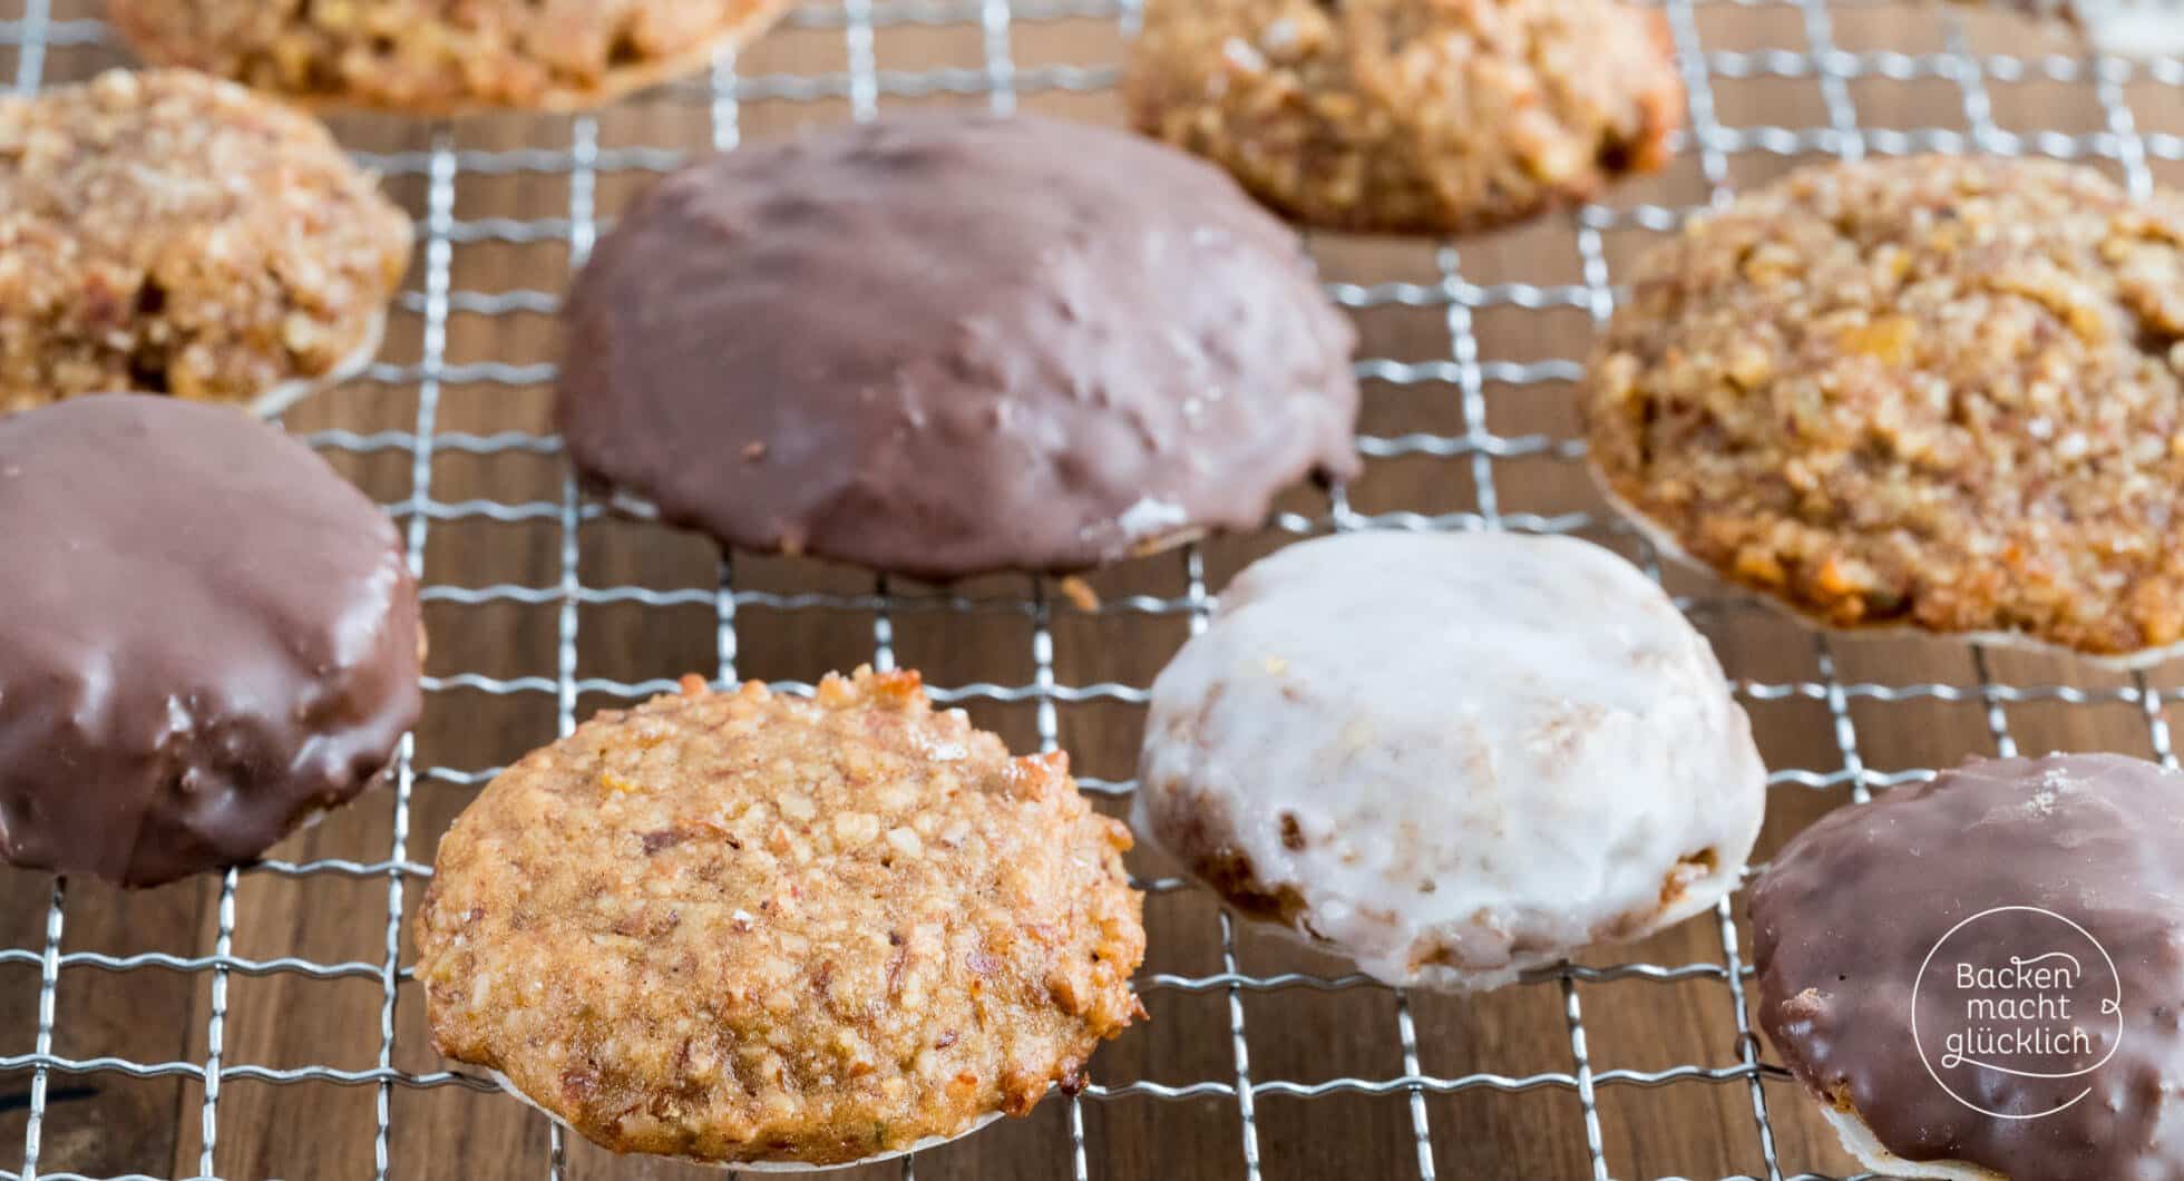
[[[0,856],[247,862],[417,720],[393,522],[280,428],[96,395],[0,419]]]

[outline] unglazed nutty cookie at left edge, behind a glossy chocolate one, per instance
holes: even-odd
[[[277,413],[371,358],[411,223],[310,116],[186,70],[0,98],[0,413]]]

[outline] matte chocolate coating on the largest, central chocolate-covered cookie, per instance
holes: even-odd
[[[1354,332],[1177,151],[887,118],[662,179],[566,308],[577,467],[727,546],[952,578],[1251,528],[1356,469]]]

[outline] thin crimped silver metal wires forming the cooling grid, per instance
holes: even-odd
[[[1695,4],[1773,7],[1789,9],[1802,17],[1806,46],[1800,50],[1767,48],[1754,52],[1708,50],[1699,37]],[[1968,50],[1963,31],[1955,17],[1939,15],[1946,28],[1942,52],[1894,52],[1867,50],[1850,52],[1835,46],[1830,9],[1824,0],[1662,0],[1669,28],[1675,39],[1679,70],[1688,90],[1690,129],[1679,133],[1677,153],[1699,162],[1710,203],[1721,203],[1732,194],[1730,162],[1741,153],[1765,155],[1900,155],[1913,151],[1985,151],[1985,153],[2038,153],[2064,159],[2105,159],[2121,166],[2134,192],[2151,186],[2149,162],[2184,159],[2184,138],[2164,133],[2140,133],[2125,98],[2127,83],[2156,83],[2160,87],[2184,90],[2184,61],[2151,59],[2123,61],[2114,57],[2073,55],[1974,55]],[[1136,31],[1138,0],[839,0],[839,4],[804,7],[791,15],[791,24],[802,28],[839,31],[847,68],[826,74],[764,74],[743,76],[732,57],[721,57],[710,79],[701,81],[695,94],[710,111],[710,138],[714,148],[734,148],[740,138],[738,114],[751,100],[845,100],[854,118],[871,118],[885,98],[913,98],[933,94],[985,96],[996,111],[1011,111],[1020,94],[1033,92],[1096,92],[1114,83],[1112,65],[1059,65],[1020,63],[1011,52],[1011,28],[1022,22],[1053,20],[1114,20],[1125,35]],[[919,72],[880,70],[874,52],[878,28],[887,26],[972,26],[981,33],[981,68],[943,68]],[[41,85],[46,50],[52,46],[96,46],[107,41],[107,31],[92,20],[55,20],[50,0],[24,0],[20,17],[0,20],[0,48],[15,48],[17,92],[35,92]],[[1813,79],[1819,87],[1826,124],[1824,127],[1723,127],[1714,107],[1714,83],[1723,79]],[[1961,94],[1963,118],[1970,131],[1955,129],[1870,129],[1861,127],[1850,83],[1859,79],[1950,83]],[[2088,133],[2062,131],[2005,131],[1996,124],[1987,83],[2018,83],[2046,79],[2090,87],[2105,116],[2105,127]],[[688,87],[679,87],[688,90]],[[607,509],[585,498],[574,478],[561,476],[557,500],[498,502],[498,500],[437,500],[432,493],[432,467],[437,454],[559,454],[559,441],[526,432],[441,432],[437,428],[441,391],[452,384],[520,386],[550,380],[546,365],[509,365],[498,360],[456,365],[448,360],[448,325],[452,314],[500,317],[515,312],[553,312],[557,295],[553,290],[456,290],[454,253],[472,242],[563,242],[570,266],[585,260],[596,234],[594,210],[596,183],[603,175],[618,172],[664,172],[686,159],[673,148],[607,148],[601,144],[598,122],[590,116],[568,118],[566,144],[539,144],[513,151],[470,151],[459,148],[454,131],[439,127],[430,148],[417,153],[360,153],[365,164],[391,177],[422,177],[424,201],[424,255],[422,290],[404,295],[404,308],[422,317],[422,356],[415,365],[376,365],[365,380],[384,386],[406,386],[417,391],[415,430],[358,434],[349,430],[323,430],[308,434],[308,441],[328,452],[378,454],[393,452],[411,458],[411,496],[389,504],[389,513],[402,524],[408,561],[426,583],[426,603],[452,605],[555,605],[557,611],[557,672],[555,677],[489,677],[480,672],[456,672],[426,677],[428,692],[476,690],[485,694],[550,694],[557,703],[559,731],[568,733],[577,725],[577,707],[583,694],[605,694],[614,699],[642,699],[653,692],[675,688],[673,681],[616,681],[601,677],[579,677],[577,633],[581,607],[636,603],[644,607],[710,607],[716,613],[716,675],[719,681],[736,681],[736,613],[760,607],[771,611],[863,611],[871,613],[871,661],[889,668],[893,653],[893,618],[911,611],[957,611],[957,613],[1013,613],[1031,624],[1031,668],[1029,683],[963,683],[935,688],[933,696],[946,703],[989,701],[1031,703],[1042,749],[1057,747],[1059,709],[1075,703],[1112,701],[1144,703],[1147,690],[1129,683],[1059,683],[1055,677],[1053,587],[1044,578],[1031,581],[1024,598],[965,598],[959,594],[891,594],[887,578],[874,583],[871,594],[773,594],[738,589],[727,557],[719,563],[719,585],[712,589],[646,589],[633,585],[585,585],[579,576],[579,526],[603,517]],[[553,175],[568,179],[568,214],[557,218],[509,220],[456,216],[456,183],[461,177],[489,175]],[[1350,506],[1345,489],[1334,487],[1324,515],[1280,513],[1271,528],[1291,535],[1308,535],[1341,528],[1516,528],[1538,533],[1570,533],[1579,528],[1621,528],[1614,522],[1594,520],[1590,513],[1535,515],[1505,513],[1496,489],[1496,461],[1520,456],[1548,456],[1555,461],[1577,461],[1583,452],[1575,439],[1551,434],[1496,434],[1487,426],[1487,384],[1533,386],[1568,382],[1579,375],[1572,358],[1507,362],[1483,360],[1474,314],[1487,308],[1514,306],[1524,310],[1575,308],[1590,317],[1592,325],[1605,321],[1614,308],[1616,288],[1610,282],[1607,251],[1603,234],[1625,227],[1647,231],[1675,229],[1686,207],[1664,205],[1586,205],[1570,214],[1577,240],[1577,284],[1474,284],[1463,277],[1455,247],[1437,251],[1437,282],[1389,282],[1389,284],[1328,284],[1330,295],[1343,308],[1365,312],[1369,308],[1406,306],[1439,310],[1446,319],[1448,356],[1437,360],[1391,360],[1363,358],[1356,369],[1363,378],[1374,378],[1393,386],[1448,384],[1459,393],[1459,434],[1409,432],[1389,437],[1361,437],[1358,448],[1369,458],[1391,456],[1439,456],[1465,461],[1476,491],[1476,511],[1463,513],[1358,513]],[[491,522],[555,522],[559,526],[559,581],[553,585],[483,585],[459,587],[437,583],[426,568],[426,541],[435,524],[459,520]],[[1642,541],[1640,541],[1642,546]],[[1123,596],[1101,605],[1101,613],[1144,613],[1182,616],[1197,633],[1208,618],[1214,596],[1208,587],[1206,561],[1199,548],[1188,548],[1179,557],[1186,594],[1179,598]],[[1655,554],[1645,552],[1645,565],[1658,576]],[[1719,607],[1717,600],[1682,600],[1690,609]],[[1081,609],[1081,607],[1066,607]],[[1983,707],[1992,744],[1998,753],[2016,753],[2007,709],[2018,703],[2110,703],[2132,705],[2143,714],[2147,740],[2153,753],[2175,766],[2177,753],[2164,723],[2164,694],[2145,675],[2134,675],[2127,685],[2073,688],[2073,685],[2009,685],[1990,675],[1987,653],[1972,653],[1979,683],[1850,683],[1837,675],[1837,657],[1826,635],[1811,640],[1815,648],[1817,679],[1808,681],[1738,681],[1736,690],[1747,701],[1815,701],[1826,707],[1830,740],[1837,753],[1835,766],[1826,768],[1780,768],[1769,777],[1771,786],[1793,788],[1837,788],[1848,786],[1856,801],[1870,799],[1872,790],[1928,777],[1928,768],[1880,773],[1867,766],[1859,747],[1859,727],[1852,716],[1856,701],[1946,701],[1974,703]],[[808,690],[806,683],[782,681],[778,688]],[[218,888],[216,934],[203,956],[175,956],[164,952],[146,954],[98,954],[61,952],[68,882],[55,880],[50,906],[46,910],[44,943],[35,947],[0,950],[0,965],[31,965],[39,974],[37,1035],[28,1054],[0,1057],[0,1072],[28,1072],[28,1122],[20,1172],[0,1172],[4,1179],[74,1177],[41,1172],[41,1126],[46,1120],[48,1087],[59,1076],[122,1074],[135,1078],[179,1076],[201,1083],[201,1155],[199,1172],[212,1174],[214,1150],[221,1142],[221,1094],[232,1081],[258,1083],[330,1083],[371,1087],[376,1091],[378,1131],[373,1142],[373,1174],[387,1177],[391,1100],[395,1089],[474,1087],[491,1089],[448,1070],[408,1072],[393,1065],[395,1050],[395,998],[397,985],[408,978],[402,965],[402,915],[404,895],[419,888],[430,875],[430,867],[413,860],[411,849],[411,799],[419,784],[476,786],[487,782],[498,768],[424,766],[415,760],[413,738],[404,738],[393,773],[393,790],[384,806],[393,810],[393,838],[382,860],[310,860],[310,862],[266,862],[240,871],[280,878],[352,878],[384,880],[387,884],[387,928],[384,947],[378,961],[319,963],[299,956],[242,958],[234,954],[236,937],[236,884],[238,871],[227,871]],[[1125,779],[1083,779],[1085,790],[1101,795],[1127,795]],[[363,803],[378,806],[378,803]],[[1186,888],[1184,882],[1166,878],[1142,882],[1149,891],[1166,893]],[[1461,1076],[1426,1074],[1420,1065],[1420,1039],[1413,1024],[1411,1002],[1396,993],[1396,1028],[1400,1039],[1402,1074],[1387,1078],[1341,1076],[1324,1083],[1293,1083],[1262,1078],[1251,1070],[1251,1054],[1245,1028],[1245,995],[1282,989],[1356,989],[1378,987],[1363,976],[1310,976],[1278,974],[1249,976],[1238,969],[1236,932],[1225,912],[1216,915],[1221,939],[1221,971],[1208,976],[1147,974],[1138,980],[1142,991],[1210,993],[1227,1000],[1227,1033],[1234,1070],[1223,1078],[1206,1078],[1188,1085],[1164,1085],[1133,1081],[1125,1085],[1088,1085],[1070,1096],[1068,1105],[1068,1174],[1085,1181],[1092,1170],[1085,1146],[1088,1102],[1105,1102],[1118,1096],[1149,1096],[1158,1100],[1216,1098],[1234,1102],[1238,1113],[1236,1148],[1243,1172],[1251,1181],[1260,1177],[1260,1129],[1256,1107],[1267,1096],[1310,1098],[1326,1094],[1406,1096],[1409,1122],[1417,1148],[1417,1177],[1435,1181],[1437,1161],[1433,1153],[1435,1129],[1428,1118],[1428,1094],[1455,1094],[1470,1089],[1531,1091],[1559,1089],[1577,1096],[1583,1113],[1586,1157],[1590,1177],[1607,1181],[1610,1166],[1603,1150],[1601,1113],[1597,1096],[1601,1087],[1658,1087],[1669,1083],[1704,1081],[1714,1085],[1743,1087],[1749,1096],[1749,1118],[1756,1126],[1767,1181],[1824,1181],[1819,1174],[1784,1174],[1776,1155],[1776,1137],[1769,1124],[1769,1100],[1762,1091],[1765,1078],[1780,1076],[1778,1067],[1758,1061],[1758,1041],[1747,1022],[1745,991],[1752,969],[1745,965],[1738,943],[1732,904],[1717,906],[1719,961],[1653,965],[1621,963],[1614,967],[1562,967],[1540,974],[1540,982],[1559,989],[1562,1013],[1568,1026],[1568,1070],[1538,1074],[1494,1074],[1474,1072]],[[1158,934],[1158,932],[1155,932]],[[55,1052],[55,1000],[63,967],[87,967],[100,971],[170,969],[181,974],[210,976],[210,1017],[205,1026],[203,1061],[129,1061],[118,1057],[70,1059]],[[236,976],[295,974],[312,980],[371,980],[380,987],[378,1063],[367,1070],[339,1070],[332,1065],[269,1067],[223,1061],[223,1033],[227,1022],[227,985]],[[1725,1067],[1673,1065],[1666,1070],[1597,1070],[1586,1048],[1586,1019],[1579,1004],[1579,985],[1607,980],[1719,980],[1725,985],[1734,1011],[1736,1061]],[[1158,1030],[1151,1033],[1158,1037]],[[548,1177],[561,1177],[563,1140],[559,1129],[550,1133],[550,1155],[539,1161]],[[904,1179],[917,1174],[917,1159],[909,1157],[900,1166]]]

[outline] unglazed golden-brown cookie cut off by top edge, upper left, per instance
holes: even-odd
[[[149,61],[312,105],[572,111],[705,68],[786,0],[107,0]]]

